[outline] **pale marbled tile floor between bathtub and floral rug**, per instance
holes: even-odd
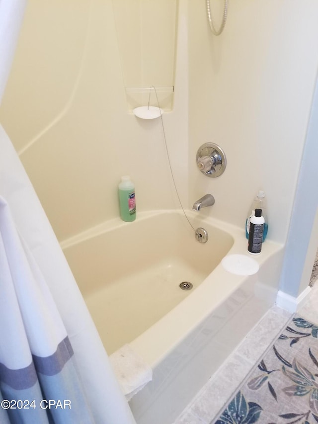
[[[315,267],[313,273],[314,271]],[[298,313],[307,320],[318,323],[317,304],[318,282],[313,285],[309,300]],[[173,424],[213,423],[291,317],[292,314],[277,306],[271,308]]]

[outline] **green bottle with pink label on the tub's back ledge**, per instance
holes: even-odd
[[[132,222],[136,219],[135,184],[129,175],[123,175],[118,184],[120,217],[123,221]]]

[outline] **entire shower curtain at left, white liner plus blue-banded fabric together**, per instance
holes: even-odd
[[[24,6],[24,0],[0,0],[0,103]],[[59,242],[1,125],[0,423],[135,423]]]

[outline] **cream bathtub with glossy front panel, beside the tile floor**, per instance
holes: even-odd
[[[171,424],[273,305],[282,246],[269,240],[252,276],[226,271],[226,254],[247,254],[242,229],[187,211],[107,221],[61,245],[108,354],[130,343],[153,368],[133,397],[138,424]],[[190,281],[193,289],[179,288]]]

